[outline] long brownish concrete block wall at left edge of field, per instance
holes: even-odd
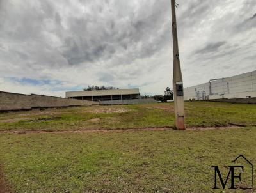
[[[97,105],[99,102],[76,100],[45,95],[22,95],[0,91],[0,111],[23,110],[46,107],[70,107],[81,105]]]

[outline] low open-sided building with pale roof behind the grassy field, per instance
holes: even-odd
[[[79,100],[106,101],[106,100],[133,100],[140,98],[138,88],[133,89],[110,89],[94,91],[69,91],[66,98]]]

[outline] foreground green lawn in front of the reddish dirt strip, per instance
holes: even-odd
[[[255,163],[255,139],[255,127],[0,134],[0,155],[17,192],[221,192],[211,166],[227,174],[239,154]]]

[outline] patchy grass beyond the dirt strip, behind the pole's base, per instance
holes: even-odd
[[[255,125],[256,105],[186,102],[187,127]],[[124,110],[119,112],[118,109]],[[97,113],[96,113],[96,112]],[[110,111],[110,112],[106,112]],[[0,114],[0,130],[91,130],[174,127],[173,104],[74,107]],[[98,121],[90,121],[98,118]],[[14,120],[12,120],[14,119]],[[6,123],[6,121],[9,123]],[[41,121],[43,120],[43,121]]]

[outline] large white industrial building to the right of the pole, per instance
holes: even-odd
[[[256,70],[184,88],[184,100],[256,97]]]

